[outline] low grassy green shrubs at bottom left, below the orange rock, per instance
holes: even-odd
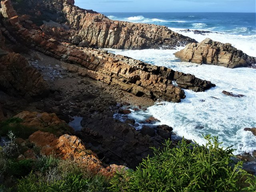
[[[94,175],[71,160],[42,156],[35,164],[34,171],[39,171],[40,174],[32,171],[20,179],[18,192],[105,192],[109,186],[107,178]]]

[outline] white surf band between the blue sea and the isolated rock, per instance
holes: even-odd
[[[194,32],[182,32],[181,30],[184,29],[178,29],[178,28],[170,28],[171,30],[178,32],[182,35],[189,36],[190,38],[194,38],[198,42],[201,42],[205,38],[210,38],[214,41],[219,41],[222,43],[231,43],[232,46],[235,48],[242,50],[244,53],[248,54],[249,56],[256,57],[256,35],[234,35],[234,34],[228,34],[228,33],[206,33],[205,35],[202,34],[194,34]],[[212,28],[214,29],[214,28]],[[210,30],[212,29],[204,29],[204,30]]]

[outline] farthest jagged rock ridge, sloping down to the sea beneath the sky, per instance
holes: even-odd
[[[83,40],[99,48],[143,49],[159,48],[159,46],[173,48],[188,42],[196,42],[165,26],[110,20],[100,13],[78,8],[73,2],[73,0],[26,0],[23,3],[31,4],[32,9],[29,8],[30,6],[22,6],[22,2],[19,2],[21,8],[18,12],[35,15],[37,18],[42,15],[37,16],[35,13],[39,10],[40,14],[44,14],[46,6],[56,13],[62,12],[67,24],[76,30],[76,35],[80,36],[81,42]],[[45,17],[48,18],[46,14]],[[59,18],[63,20],[61,14]]]

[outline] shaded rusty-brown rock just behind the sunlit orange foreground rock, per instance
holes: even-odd
[[[65,133],[74,134],[74,129],[68,126],[65,121],[60,120],[55,113],[23,111],[14,117],[22,119],[23,121],[20,124],[24,126],[37,128],[42,131],[55,129],[54,132],[56,135]]]

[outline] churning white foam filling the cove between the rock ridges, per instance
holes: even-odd
[[[181,49],[181,48],[178,48]],[[131,114],[131,118],[152,115],[174,128],[179,136],[204,144],[202,134],[218,135],[223,146],[234,145],[236,154],[256,150],[256,137],[243,129],[256,126],[256,70],[251,68],[229,69],[220,66],[177,62],[177,50],[112,50],[116,54],[144,60],[159,66],[196,75],[216,84],[206,92],[185,90],[181,103],[164,102],[148,108],[146,114]],[[222,90],[244,94],[234,98]],[[202,129],[198,129],[201,126]]]

